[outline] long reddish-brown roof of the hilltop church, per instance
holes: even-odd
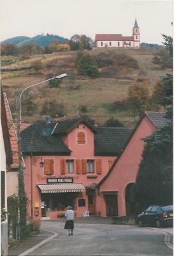
[[[122,36],[122,34],[96,34],[95,41],[133,41],[133,36]]]

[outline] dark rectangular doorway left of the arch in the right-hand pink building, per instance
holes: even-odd
[[[106,216],[118,216],[117,195],[105,195]]]

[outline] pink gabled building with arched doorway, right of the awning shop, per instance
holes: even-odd
[[[165,113],[145,112],[122,152],[115,159],[98,188],[97,211],[101,216],[131,216],[135,213],[134,184],[145,142],[157,129],[168,124]]]

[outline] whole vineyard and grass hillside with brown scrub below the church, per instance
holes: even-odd
[[[23,110],[23,120],[33,122],[43,118],[44,115],[40,115],[42,104],[45,100],[55,100],[57,105],[63,106],[66,115],[76,115],[77,105],[80,105],[83,113],[99,124],[103,124],[109,116],[115,116],[124,125],[131,127],[134,125],[131,113],[120,111],[119,108],[112,109],[110,106],[115,101],[127,97],[127,88],[137,81],[143,79],[152,92],[160,76],[171,72],[171,70],[161,70],[152,63],[154,50],[150,49],[94,49],[84,52],[94,56],[100,64],[104,60],[104,67],[102,65],[99,67],[98,78],[92,79],[78,75],[75,65],[77,52],[75,51],[36,55],[28,60],[18,60],[18,58],[9,56],[11,62],[8,56],[4,56],[1,61],[6,72],[1,73],[1,79],[13,116],[16,116],[15,95],[17,93],[22,92],[31,84],[46,80],[48,75],[54,77],[67,73],[69,76],[62,81],[59,88],[50,88],[48,83],[45,83],[29,90],[36,108],[33,113],[24,113]],[[33,68],[33,63],[36,61],[41,63],[40,70]],[[27,92],[24,98],[27,98]],[[22,108],[24,109],[24,106]]]

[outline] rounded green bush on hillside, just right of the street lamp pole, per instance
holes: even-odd
[[[48,115],[51,117],[63,116],[64,113],[64,105],[57,104],[55,100],[46,100],[41,108],[41,115]]]

